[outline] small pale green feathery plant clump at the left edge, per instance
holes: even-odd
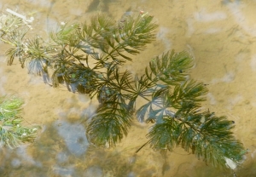
[[[19,98],[0,98],[0,144],[15,148],[23,142],[32,142],[36,138],[38,127],[26,128],[21,125],[20,117],[23,101]]]

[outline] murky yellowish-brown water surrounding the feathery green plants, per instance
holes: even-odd
[[[159,24],[157,40],[127,69],[140,73],[155,55],[169,49],[188,50],[195,57],[192,77],[208,84],[205,107],[236,122],[236,138],[249,149],[236,176],[256,176],[256,21],[255,0],[1,0],[2,11],[33,14],[41,35],[61,21],[84,21],[97,11],[118,20],[125,12],[148,11]],[[206,166],[180,148],[166,161],[144,147],[147,126],[134,123],[116,148],[90,146],[81,121],[96,108],[86,95],[50,88],[27,75],[18,61],[7,66],[1,44],[0,94],[22,97],[26,122],[43,126],[32,145],[0,150],[0,176],[233,176]]]

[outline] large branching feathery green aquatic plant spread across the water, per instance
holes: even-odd
[[[244,148],[231,132],[234,122],[201,111],[207,87],[189,76],[194,66],[189,53],[169,51],[154,57],[142,75],[122,68],[154,40],[153,16],[127,14],[116,23],[98,14],[90,23],[62,22],[46,42],[29,38],[30,21],[10,12],[1,16],[0,31],[3,43],[12,45],[6,53],[8,65],[18,58],[29,73],[43,76],[54,88],[65,84],[73,93],[96,96],[99,106],[84,125],[90,142],[115,146],[137,117],[152,123],[143,146],[161,151],[182,146],[216,167],[234,169],[241,162]],[[145,104],[137,107],[139,99]]]

